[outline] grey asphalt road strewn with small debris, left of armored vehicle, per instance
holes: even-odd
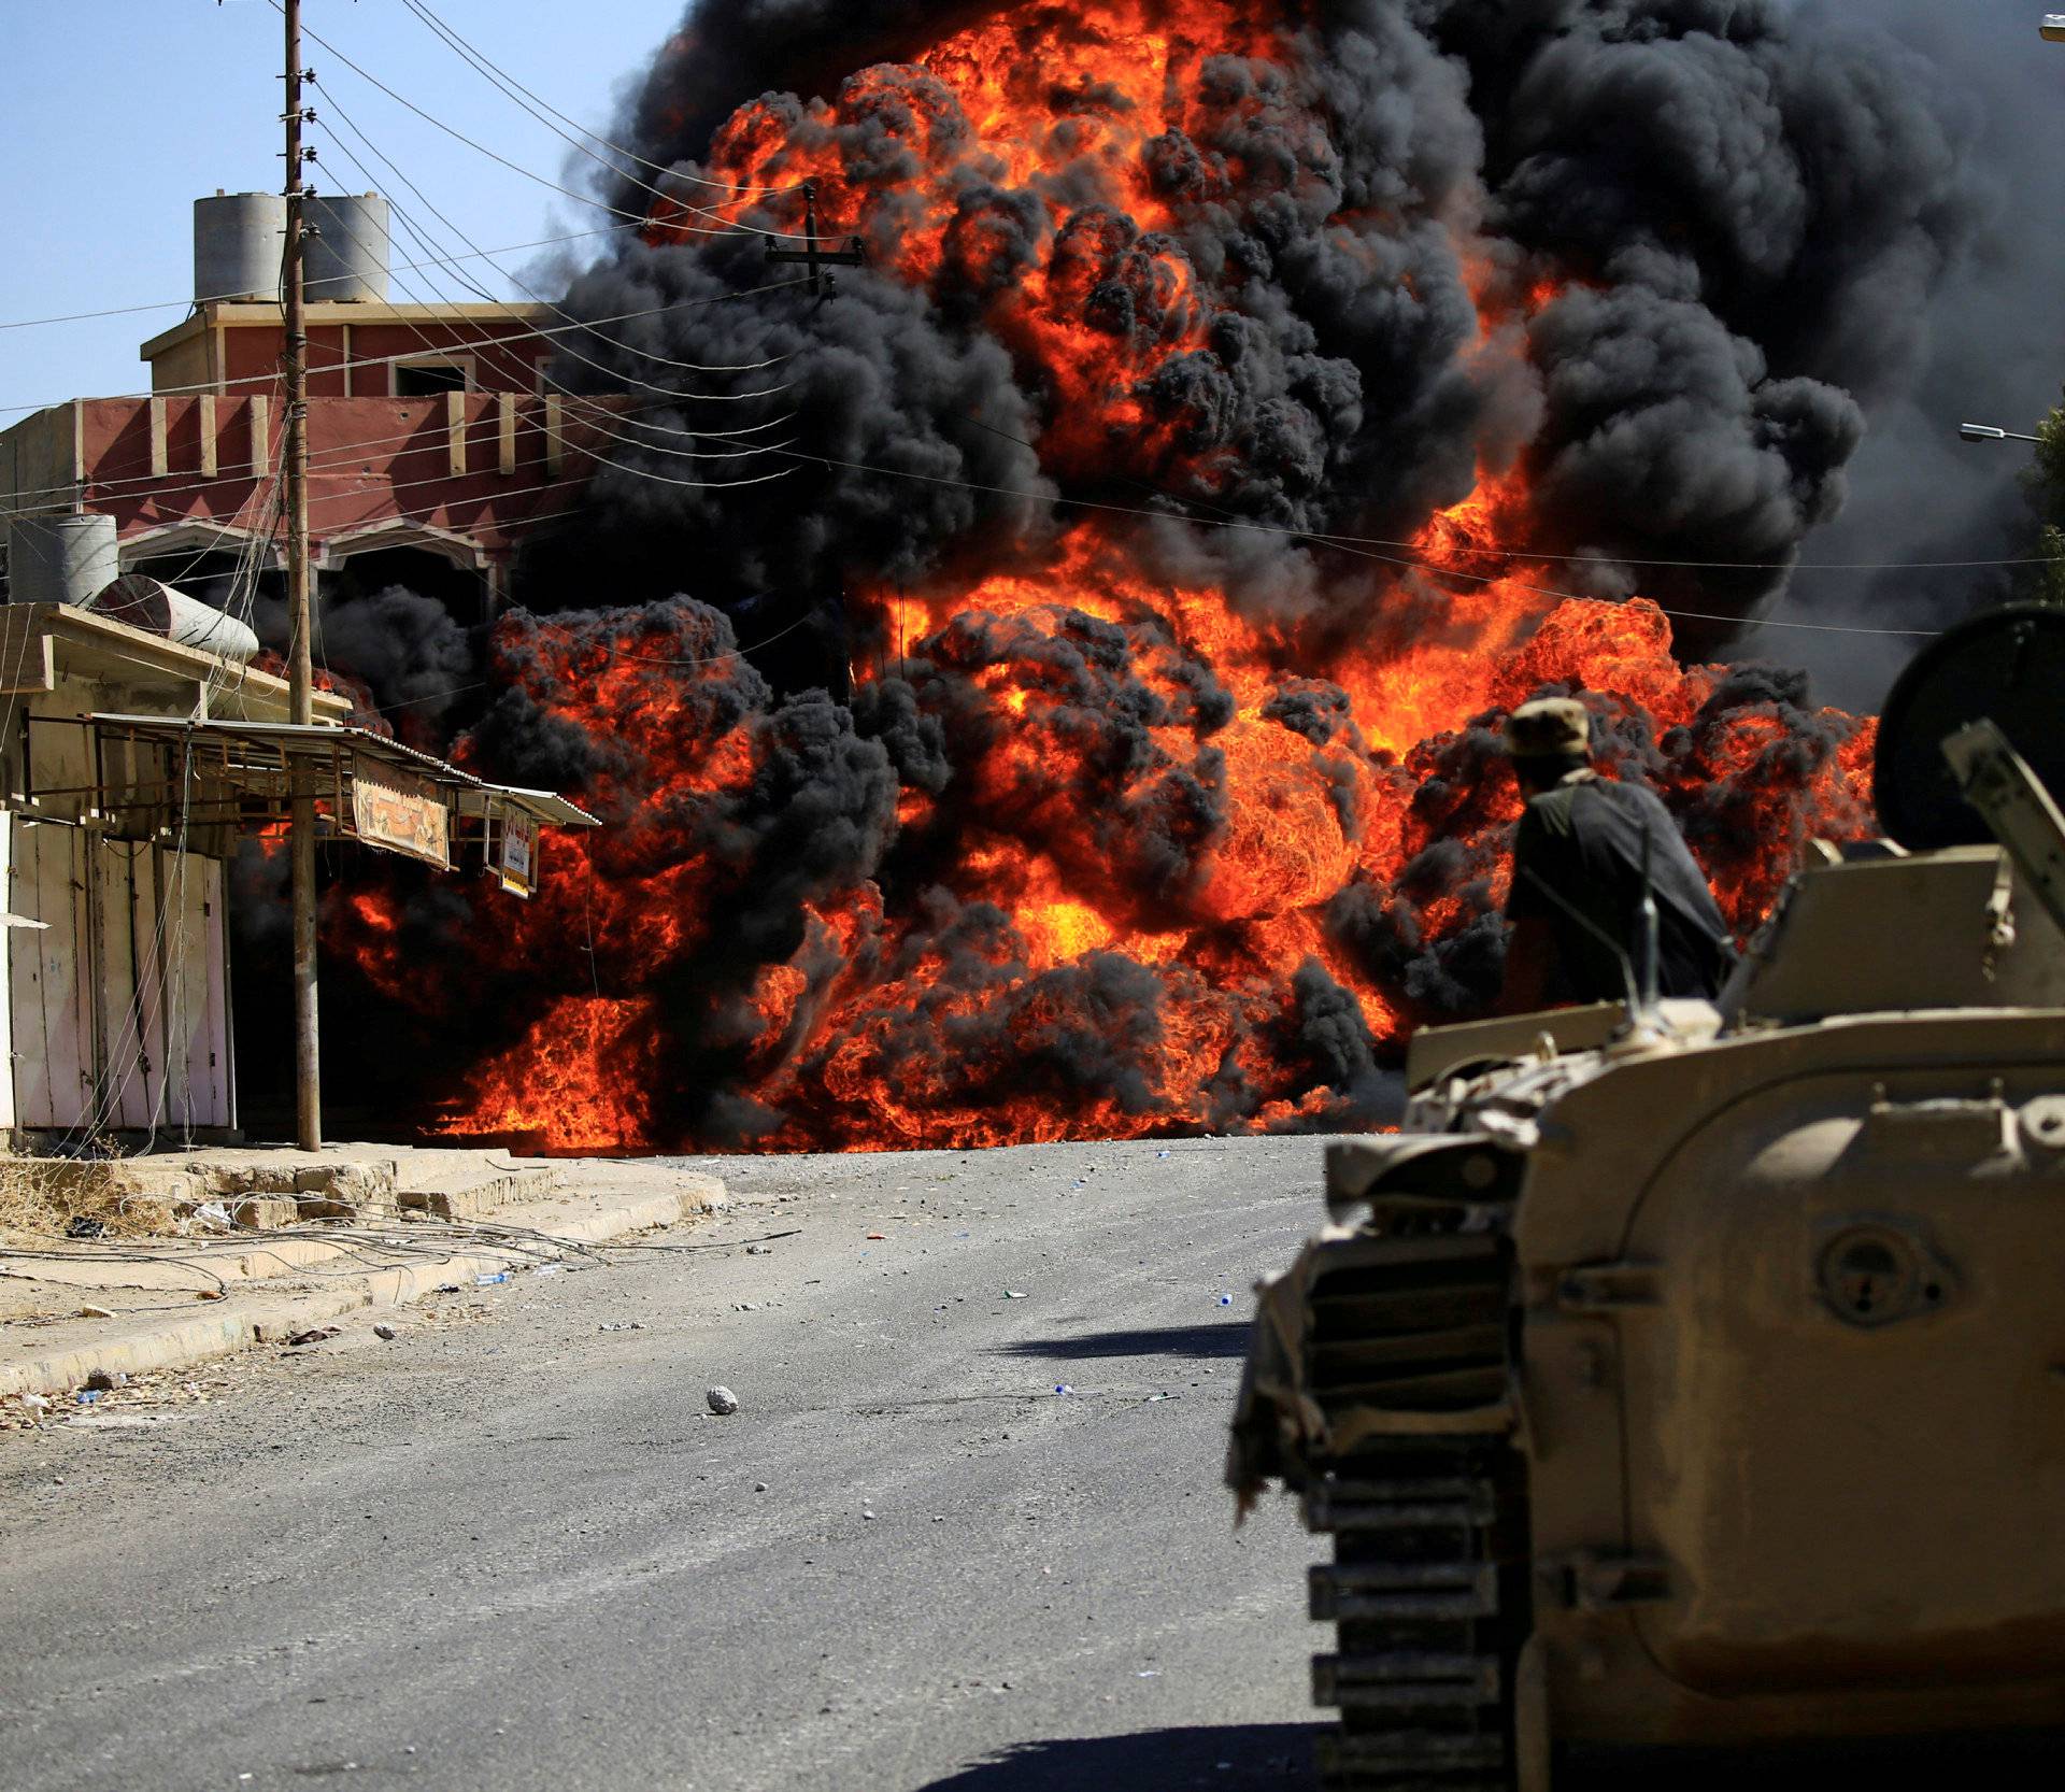
[[[1307,1784],[1317,1546],[1218,1474],[1320,1144],[717,1169],[733,1249],[0,1437],[0,1786]]]

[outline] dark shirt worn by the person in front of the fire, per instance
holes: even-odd
[[[1629,956],[1635,977],[1642,974],[1644,838],[1656,896],[1656,993],[1720,993],[1735,964],[1735,941],[1671,811],[1646,785],[1617,785],[1584,770],[1530,797],[1514,834],[1514,890],[1505,915],[1549,923],[1555,941],[1549,1001],[1619,1001],[1627,993],[1621,960],[1607,939]],[[1590,927],[1574,919],[1565,902]]]

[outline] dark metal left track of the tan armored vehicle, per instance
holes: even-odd
[[[1443,1429],[1332,1458],[1305,1524],[1334,1538],[1311,1614],[1328,1792],[1510,1792],[1514,1664],[1528,1635],[1526,1478],[1503,1422],[1512,1257],[1497,1233],[1357,1241],[1309,1294],[1307,1391]]]

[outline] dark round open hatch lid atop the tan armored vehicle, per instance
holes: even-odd
[[[2061,704],[2065,609],[2011,603],[1937,636],[1908,661],[1879,716],[1871,772],[1879,826],[1910,853],[1993,840],[1943,760],[1945,735],[1980,716],[2065,799]]]

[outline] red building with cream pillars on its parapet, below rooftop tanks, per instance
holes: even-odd
[[[469,621],[496,611],[516,541],[574,504],[607,421],[607,401],[545,390],[555,322],[543,306],[308,308],[324,593],[409,584]],[[279,303],[196,303],[142,345],[153,396],[74,398],[0,434],[0,510],[114,516],[124,572],[200,584],[248,551],[277,568],[283,337]]]

